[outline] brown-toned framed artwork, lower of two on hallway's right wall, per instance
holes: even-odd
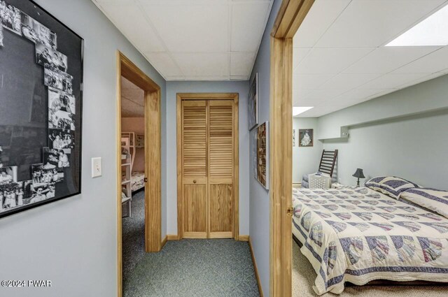
[[[269,189],[269,122],[257,127],[257,180]]]

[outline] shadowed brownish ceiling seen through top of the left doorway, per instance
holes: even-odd
[[[145,117],[145,92],[121,77],[121,117]]]

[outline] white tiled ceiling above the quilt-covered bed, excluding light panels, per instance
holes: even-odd
[[[448,47],[384,47],[447,0],[316,0],[293,39],[294,106],[319,117],[448,73]]]

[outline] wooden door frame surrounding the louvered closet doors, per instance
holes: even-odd
[[[182,101],[183,100],[233,100],[233,129],[235,135],[233,155],[233,238],[239,240],[239,123],[238,93],[178,93],[176,96],[176,150],[177,150],[177,239],[183,238],[183,185],[182,185]]]

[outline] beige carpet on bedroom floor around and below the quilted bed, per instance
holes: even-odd
[[[302,255],[293,240],[293,297],[317,297],[313,291],[316,273],[308,259]],[[346,287],[341,297],[446,297],[445,286],[351,286]],[[323,297],[337,297],[336,294],[323,294]]]

